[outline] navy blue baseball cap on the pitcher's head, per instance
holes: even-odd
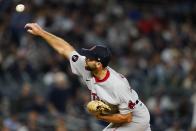
[[[111,52],[108,47],[104,45],[96,45],[90,49],[81,49],[81,55],[86,56],[86,58],[94,59],[99,61],[106,67],[111,59]]]

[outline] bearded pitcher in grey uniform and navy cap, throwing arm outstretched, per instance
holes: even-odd
[[[91,91],[88,111],[97,119],[110,122],[103,131],[151,131],[148,109],[127,79],[108,66],[111,52],[107,47],[97,45],[78,53],[68,42],[36,23],[28,23],[25,28],[69,59],[72,72],[82,77]]]

